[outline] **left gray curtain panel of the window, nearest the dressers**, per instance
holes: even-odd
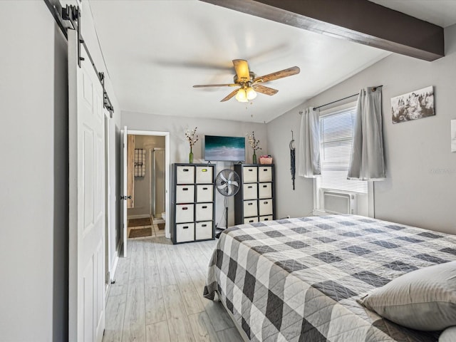
[[[314,178],[321,175],[319,112],[309,107],[301,117],[298,150],[298,175]]]

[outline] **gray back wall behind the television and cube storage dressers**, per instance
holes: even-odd
[[[122,112],[122,127],[126,125],[128,130],[156,130],[170,132],[170,162],[188,162],[190,147],[185,139],[185,128],[192,130],[197,127],[199,141],[193,147],[193,162],[204,162],[204,135],[227,135],[242,137],[255,132],[255,137],[260,140],[260,154],[268,154],[266,141],[266,125],[263,123],[242,123],[232,120],[196,119],[180,116],[154,115],[144,113]],[[247,138],[247,137],[246,137]],[[247,162],[252,162],[252,148],[249,148],[246,139]],[[217,172],[224,168],[232,167],[230,162],[217,162]],[[216,194],[215,219],[224,227],[224,197]],[[229,224],[234,224],[234,199],[228,197]]]

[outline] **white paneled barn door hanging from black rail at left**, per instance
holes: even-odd
[[[103,89],[90,60],[78,66],[68,30],[70,147],[69,341],[100,342],[105,328],[105,157]]]

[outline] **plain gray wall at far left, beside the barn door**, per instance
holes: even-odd
[[[0,340],[65,341],[66,39],[43,1],[1,1],[0,23]]]

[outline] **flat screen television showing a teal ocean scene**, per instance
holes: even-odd
[[[204,135],[204,160],[244,162],[245,138]]]

